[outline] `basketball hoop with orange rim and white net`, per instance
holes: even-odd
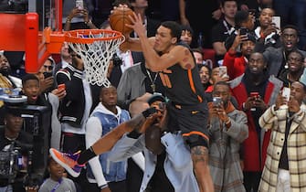
[[[78,29],[67,31],[65,41],[83,60],[86,80],[92,85],[109,87],[107,71],[113,53],[124,41],[121,33],[106,29]]]

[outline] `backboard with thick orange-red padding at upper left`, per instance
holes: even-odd
[[[0,49],[25,51],[26,72],[36,73],[50,54],[59,53],[64,41],[62,0],[25,0],[26,5],[10,2],[16,4],[0,5]]]

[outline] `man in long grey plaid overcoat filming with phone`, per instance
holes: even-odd
[[[227,82],[214,85],[213,101],[208,103],[209,168],[215,192],[243,192],[242,168],[240,166],[240,144],[248,138],[248,119],[231,103]],[[230,173],[230,174],[229,174]]]

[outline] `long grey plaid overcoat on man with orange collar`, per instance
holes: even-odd
[[[212,108],[213,104],[208,103]],[[231,102],[226,108],[231,126],[226,128],[216,117],[210,118],[209,169],[216,192],[243,192],[243,174],[240,166],[240,144],[248,138],[248,119]]]

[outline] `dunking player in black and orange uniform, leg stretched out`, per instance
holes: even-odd
[[[178,43],[181,27],[175,22],[167,21],[158,27],[155,37],[148,38],[141,16],[134,15],[131,19],[132,25],[128,27],[132,27],[139,38],[131,38],[126,34],[126,41],[121,45],[121,49],[142,51],[147,66],[152,71],[161,71],[166,96],[170,99],[169,131],[182,132],[191,148],[195,177],[200,191],[213,192],[214,186],[208,167],[207,105],[193,53]],[[132,131],[131,126],[124,127],[121,124],[119,127],[113,130],[116,131],[113,133],[114,136],[109,135],[111,138],[114,137],[111,142],[106,142],[106,138],[102,137],[79,155],[62,154],[54,149],[50,149],[50,154],[58,164],[78,176],[82,164],[109,150],[124,132]]]

